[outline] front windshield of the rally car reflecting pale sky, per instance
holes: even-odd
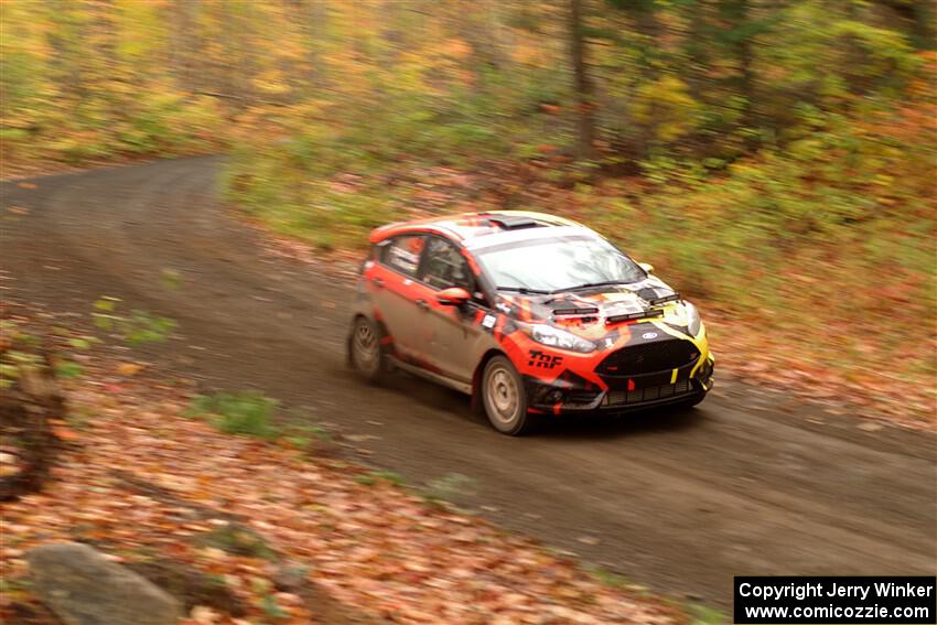
[[[644,270],[595,236],[532,239],[476,252],[498,289],[554,292],[592,284],[628,284]]]

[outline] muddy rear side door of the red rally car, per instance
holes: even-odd
[[[384,241],[377,262],[368,272],[368,289],[376,313],[390,334],[394,353],[405,360],[420,359],[423,341],[420,319],[424,311],[417,300],[422,290],[417,273],[420,268],[426,237],[401,235]]]

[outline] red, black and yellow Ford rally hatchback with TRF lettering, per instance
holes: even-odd
[[[693,406],[713,385],[699,312],[595,231],[540,213],[391,224],[370,234],[348,362],[472,396],[519,434],[534,414]]]

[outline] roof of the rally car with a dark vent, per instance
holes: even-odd
[[[460,241],[466,247],[484,237],[513,233],[518,239],[527,233],[550,227],[580,226],[571,219],[535,213],[532,211],[491,211],[485,213],[463,213],[440,217],[398,222],[375,228],[370,243],[380,243],[389,237],[408,233],[434,233]]]

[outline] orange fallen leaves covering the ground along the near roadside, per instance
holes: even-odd
[[[25,552],[62,540],[91,543],[118,562],[170,558],[222,580],[244,606],[234,617],[195,605],[185,623],[685,618],[388,479],[356,482],[363,467],[310,457],[286,441],[219,433],[183,414],[187,397],[177,386],[130,377],[97,356],[84,366],[85,377],[66,388],[71,412],[87,418],[63,429],[68,448],[50,482],[2,505],[4,618],[35,603]],[[209,540],[233,524],[262,549]],[[313,592],[283,583],[284,571]],[[330,602],[354,606],[354,615]]]

